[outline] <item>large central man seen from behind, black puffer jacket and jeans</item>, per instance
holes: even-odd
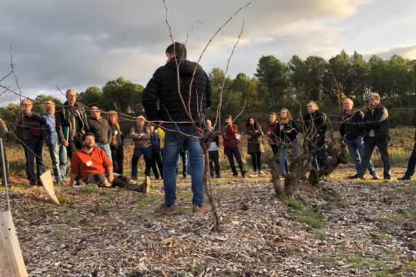
[[[202,206],[203,150],[199,140],[191,136],[198,136],[192,123],[200,124],[205,109],[211,105],[211,86],[208,75],[202,67],[196,62],[187,60],[187,48],[184,44],[175,42],[168,46],[166,57],[168,57],[166,64],[153,74],[142,96],[148,120],[168,122],[164,123],[166,128],[163,150],[165,202],[155,210],[155,215],[175,213],[176,165],[180,148],[184,143],[188,146],[191,159],[193,212],[205,213],[210,211],[210,208]]]

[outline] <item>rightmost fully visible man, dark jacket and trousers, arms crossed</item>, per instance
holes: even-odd
[[[364,113],[364,119],[360,128],[364,130],[364,154],[357,174],[352,179],[364,179],[365,171],[368,168],[372,152],[377,147],[383,161],[383,179],[390,180],[390,157],[388,156],[388,141],[390,133],[388,129],[388,111],[380,104],[379,93],[370,93],[368,96],[370,109]]]

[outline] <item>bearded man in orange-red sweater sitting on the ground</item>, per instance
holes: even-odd
[[[79,173],[85,183],[98,184],[109,188],[119,186],[128,190],[135,190],[139,193],[147,193],[150,188],[150,178],[146,177],[141,186],[124,175],[113,173],[112,163],[108,159],[104,150],[96,147],[95,136],[87,133],[83,136],[84,146],[75,152],[71,159],[71,180],[69,185],[73,185],[76,175]]]

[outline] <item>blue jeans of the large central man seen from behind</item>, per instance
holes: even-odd
[[[170,131],[179,129],[184,134],[198,136],[192,125],[166,124],[163,150],[163,184],[165,204],[171,206],[176,200],[176,166],[177,157],[184,143],[188,145],[189,161],[192,168],[191,188],[193,193],[192,204],[202,205],[204,202],[204,151],[198,139],[190,138],[179,132]]]

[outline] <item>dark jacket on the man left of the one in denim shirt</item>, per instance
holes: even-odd
[[[16,124],[17,143],[27,144],[34,133],[39,134],[37,137],[43,138],[44,129],[42,125],[46,119],[40,114],[19,114]]]

